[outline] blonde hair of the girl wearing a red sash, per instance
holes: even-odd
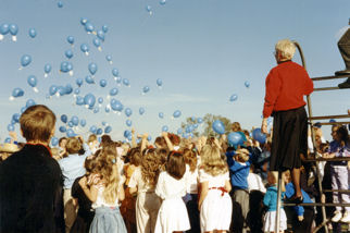
[[[201,167],[204,172],[216,176],[228,171],[226,161],[216,146],[205,145],[201,150]]]

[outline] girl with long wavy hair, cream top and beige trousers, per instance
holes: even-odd
[[[130,194],[137,192],[136,223],[138,233],[153,233],[161,198],[154,193],[160,170],[160,156],[157,149],[147,149],[141,165],[137,167],[130,177]]]

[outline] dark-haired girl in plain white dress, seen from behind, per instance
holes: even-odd
[[[159,175],[155,194],[162,198],[158,212],[155,233],[184,232],[190,229],[183,196],[186,195],[186,171],[182,154],[173,151],[167,156],[166,171]]]

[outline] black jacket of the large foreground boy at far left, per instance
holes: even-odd
[[[0,232],[64,232],[63,176],[46,146],[26,144],[0,164]]]

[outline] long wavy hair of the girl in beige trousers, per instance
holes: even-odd
[[[160,157],[157,150],[148,149],[141,160],[141,174],[142,181],[150,187],[154,187],[157,184],[160,167]]]

